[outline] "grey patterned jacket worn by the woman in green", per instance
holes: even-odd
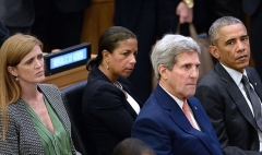
[[[55,85],[39,84],[38,86],[71,136],[71,122],[63,105],[61,92]],[[76,155],[71,138],[70,141],[73,155]],[[9,106],[7,141],[3,142],[0,138],[0,154],[44,155],[40,138],[22,99]]]

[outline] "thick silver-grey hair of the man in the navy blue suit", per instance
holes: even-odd
[[[183,51],[201,53],[196,41],[181,35],[166,34],[155,44],[151,53],[151,62],[157,80],[160,79],[158,67],[164,64],[168,70],[172,70],[177,56]]]

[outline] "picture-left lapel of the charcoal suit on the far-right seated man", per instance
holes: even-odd
[[[254,122],[253,115],[248,106],[248,103],[246,102],[246,98],[243,97],[235,81],[219,62],[216,64],[215,71],[221,76],[222,81],[225,82],[225,87],[228,94],[231,96],[234,103],[238,106],[240,112],[253,126],[253,128],[257,129],[257,123]]]

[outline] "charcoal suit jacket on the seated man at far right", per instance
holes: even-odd
[[[262,98],[258,73],[252,68],[246,71]],[[195,97],[209,115],[226,155],[261,154],[258,128],[251,110],[237,84],[219,62],[200,81]]]

